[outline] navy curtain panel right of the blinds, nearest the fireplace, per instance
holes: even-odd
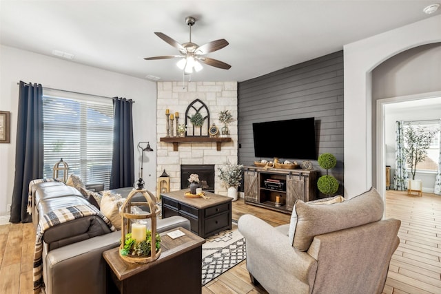
[[[132,187],[134,184],[133,101],[113,98],[114,127],[110,189]]]

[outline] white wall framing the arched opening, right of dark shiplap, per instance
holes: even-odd
[[[404,50],[440,42],[440,28],[438,15],[344,46],[345,197],[366,191],[373,182],[371,71]]]

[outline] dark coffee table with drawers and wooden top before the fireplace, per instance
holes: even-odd
[[[193,233],[209,235],[232,229],[232,198],[205,191],[204,198],[187,198],[189,189],[161,193],[162,217],[183,216]]]

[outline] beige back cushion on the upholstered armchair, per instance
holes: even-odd
[[[383,216],[384,203],[375,188],[332,205],[296,202],[298,216],[293,246],[307,251],[314,236],[376,222]]]

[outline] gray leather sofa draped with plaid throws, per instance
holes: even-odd
[[[90,204],[78,190],[63,182],[40,182],[32,191],[32,221],[36,229],[40,218],[55,209]],[[181,216],[158,219],[156,231],[176,227],[189,230],[189,220]],[[111,231],[99,216],[78,218],[45,230],[43,293],[106,293],[102,253],[119,246],[120,240],[121,231]]]

